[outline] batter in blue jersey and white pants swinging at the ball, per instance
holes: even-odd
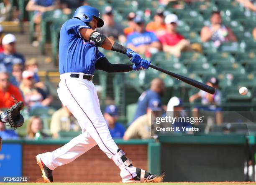
[[[97,9],[78,7],[72,19],[61,27],[59,41],[59,72],[61,81],[57,90],[63,105],[67,105],[82,128],[82,134],[52,152],[36,156],[46,183],[53,182],[52,171],[72,162],[95,145],[120,168],[123,183],[154,182],[158,179],[133,166],[112,139],[100,111],[95,85],[92,83],[95,69],[107,72],[127,72],[148,69],[150,61],[141,59],[133,50],[123,47],[95,31],[104,24]],[[131,58],[131,65],[111,64],[98,50],[102,47],[123,53]]]

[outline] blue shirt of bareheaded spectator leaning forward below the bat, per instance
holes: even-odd
[[[140,95],[137,103],[138,107],[133,117],[133,121],[136,120],[138,117],[147,113],[148,104],[150,100],[153,100],[153,99],[159,99],[160,101],[160,95],[154,92],[153,90],[146,90]]]

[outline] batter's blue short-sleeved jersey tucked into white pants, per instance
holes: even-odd
[[[61,27],[59,40],[59,72],[82,72],[92,75],[95,63],[104,55],[98,47],[82,38],[79,29],[89,28],[77,18],[67,20]]]

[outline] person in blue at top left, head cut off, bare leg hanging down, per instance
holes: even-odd
[[[38,45],[41,41],[41,16],[44,12],[52,11],[55,9],[55,0],[29,0],[26,6],[27,11],[34,11],[33,21],[36,25],[35,30],[37,34],[37,42],[33,44]]]

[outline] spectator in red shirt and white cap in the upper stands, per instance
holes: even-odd
[[[166,34],[159,37],[163,50],[173,54],[175,57],[180,57],[182,50],[189,47],[189,40],[186,40],[177,32],[177,15],[167,15],[164,22],[166,23]]]

